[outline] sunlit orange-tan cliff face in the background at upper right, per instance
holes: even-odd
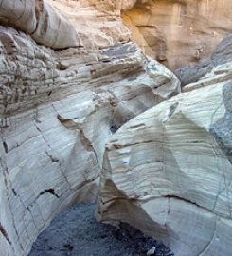
[[[231,32],[230,0],[129,2],[131,9],[124,11],[122,17],[133,40],[171,69],[206,60]]]

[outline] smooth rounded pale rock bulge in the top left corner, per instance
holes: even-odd
[[[80,46],[75,27],[45,0],[1,0],[0,6],[0,24],[27,32],[37,43],[54,49]]]

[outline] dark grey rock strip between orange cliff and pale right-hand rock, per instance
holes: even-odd
[[[180,79],[181,85],[186,86],[189,83],[197,82],[204,77],[214,67],[232,62],[232,35],[226,36],[216,47],[211,58],[205,62],[200,62],[193,67],[183,67],[174,71]]]

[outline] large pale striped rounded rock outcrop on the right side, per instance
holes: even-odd
[[[100,221],[128,222],[178,256],[231,254],[232,82],[225,78],[212,72],[210,86],[195,84],[116,131],[104,155]]]

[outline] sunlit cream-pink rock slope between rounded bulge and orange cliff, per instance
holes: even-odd
[[[84,48],[106,48],[130,40],[130,31],[120,19],[121,1],[47,1],[74,25]]]

